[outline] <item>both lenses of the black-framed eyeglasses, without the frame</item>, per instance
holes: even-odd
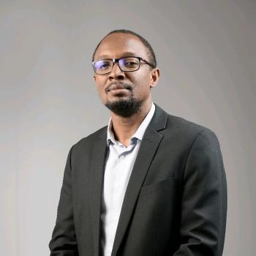
[[[135,57],[126,57],[119,59],[118,65],[122,71],[135,71],[140,67],[140,60]],[[111,72],[112,67],[112,59],[102,59],[94,63],[94,71],[99,75]]]

